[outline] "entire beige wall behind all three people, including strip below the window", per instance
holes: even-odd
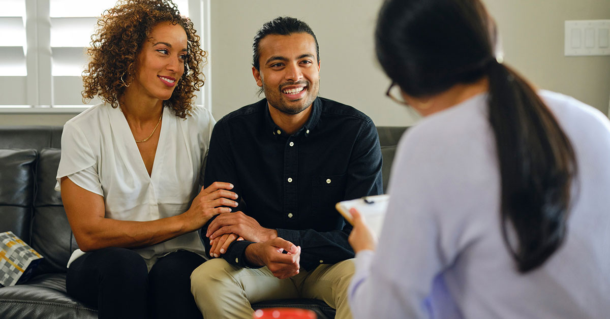
[[[564,57],[564,20],[610,19],[608,0],[483,0],[498,21],[505,60],[541,88],[575,96],[604,113],[610,56]],[[278,15],[310,24],[320,43],[320,96],[367,113],[378,125],[414,123],[409,110],[384,95],[389,80],[373,54],[381,0],[211,0],[212,110],[219,119],[257,101],[251,73],[256,30]],[[451,49],[447,49],[451,54]],[[0,115],[0,125],[61,125],[65,115]]]

